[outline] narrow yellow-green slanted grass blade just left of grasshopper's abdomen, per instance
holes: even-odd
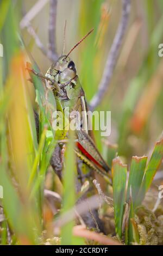
[[[38,151],[36,153],[36,156],[35,156],[35,160],[34,160],[33,167],[32,167],[32,172],[30,173],[30,177],[29,177],[29,181],[28,181],[28,187],[30,187],[32,185],[32,183],[34,181],[34,178],[36,176],[37,166],[38,166],[40,158],[41,158],[43,146],[45,144],[46,131],[47,131],[47,129],[45,128],[42,132],[42,135],[41,135],[41,139],[40,139],[40,143],[39,143],[39,149],[38,149]]]

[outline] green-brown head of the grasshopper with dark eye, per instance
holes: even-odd
[[[47,78],[51,78],[59,87],[64,87],[77,75],[74,62],[66,55],[61,56],[57,62],[52,64],[46,73]]]

